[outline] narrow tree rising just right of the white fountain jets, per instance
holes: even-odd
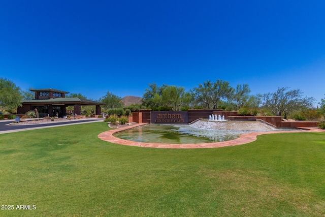
[[[234,94],[230,97],[230,103],[234,107],[234,110],[237,111],[249,100],[250,89],[248,84],[238,84]]]

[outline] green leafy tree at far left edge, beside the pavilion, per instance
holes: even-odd
[[[19,87],[7,78],[0,78],[0,107],[17,109],[21,106],[22,95]]]

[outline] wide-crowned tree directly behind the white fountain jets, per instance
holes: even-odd
[[[212,83],[211,81],[199,84],[199,87],[193,88],[193,93],[196,100],[206,105],[207,108],[218,108],[218,103],[222,99],[228,99],[234,92],[234,88],[229,86],[228,81],[217,80]]]

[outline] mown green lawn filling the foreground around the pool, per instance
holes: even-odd
[[[325,133],[158,149],[98,139],[106,130],[96,122],[0,134],[0,204],[14,205],[0,216],[325,215]]]

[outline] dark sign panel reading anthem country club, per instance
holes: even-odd
[[[187,111],[151,111],[151,123],[188,124]]]

